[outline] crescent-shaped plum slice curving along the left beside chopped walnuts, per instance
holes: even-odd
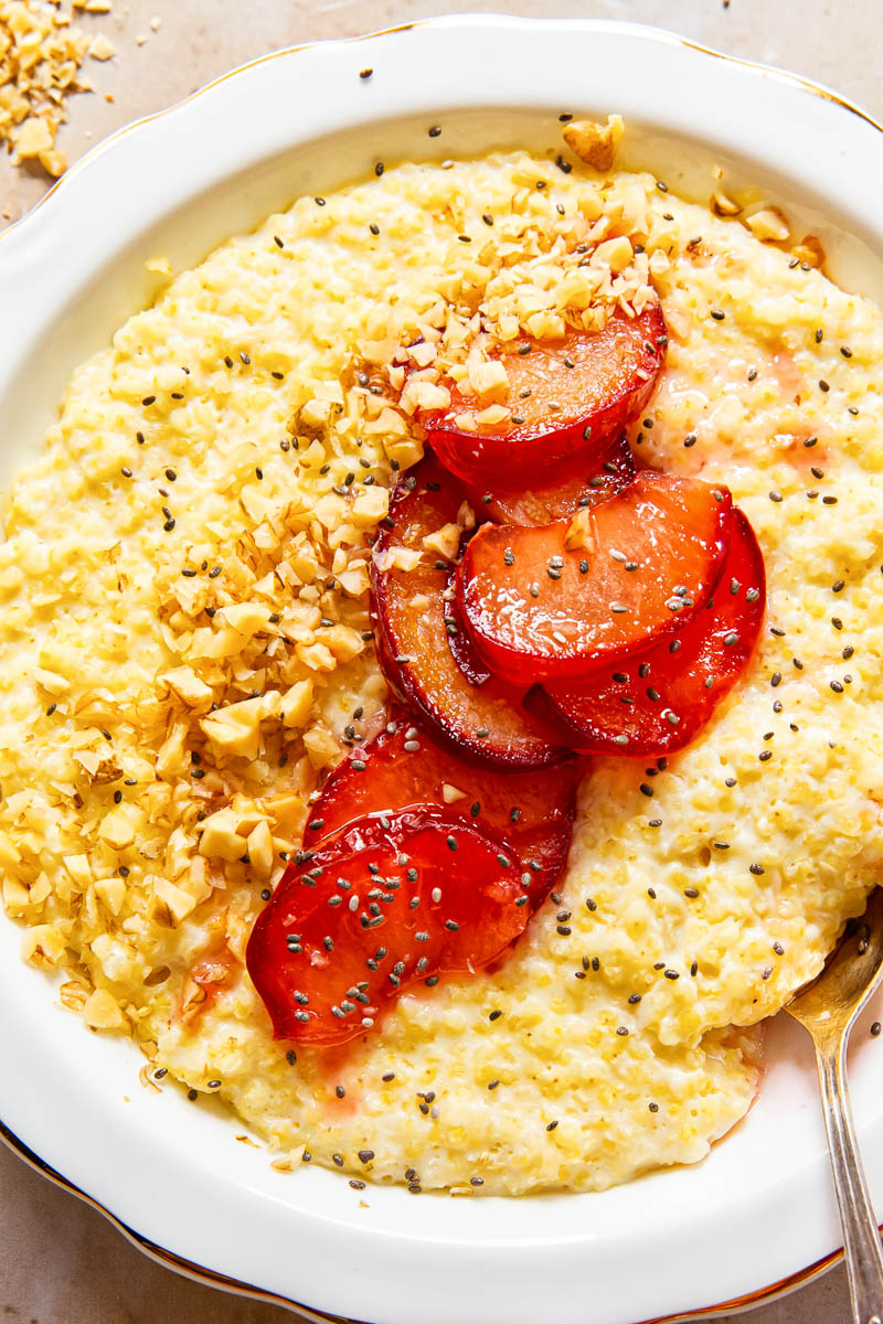
[[[454,560],[425,545],[453,527],[465,493],[457,479],[426,455],[400,479],[389,520],[373,547],[372,614],[377,657],[392,688],[463,757],[488,767],[541,768],[565,757],[567,748],[526,712],[520,688],[506,685],[458,641]],[[420,553],[409,569],[397,553]],[[455,552],[458,555],[458,551]]]

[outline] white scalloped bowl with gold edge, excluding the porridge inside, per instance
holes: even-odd
[[[707,197],[719,162],[805,218],[842,283],[882,295],[883,136],[833,93],[647,28],[433,20],[257,61],[116,134],[1,236],[0,477],[40,446],[70,369],[150,301],[147,258],[192,265],[379,158],[545,148],[560,111],[610,110],[633,160],[673,189]],[[426,135],[434,122],[441,139]],[[631,1324],[755,1301],[841,1243],[809,1049],[782,1023],[760,1102],[703,1164],[604,1194],[360,1196],[330,1172],[274,1172],[210,1104],[143,1090],[136,1050],[62,1013],[19,943],[0,920],[11,1143],[165,1263],[218,1286],[372,1324]],[[854,1035],[853,1083],[883,1210],[871,1016]]]

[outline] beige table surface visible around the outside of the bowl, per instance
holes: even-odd
[[[65,0],[65,7],[68,0]],[[70,103],[61,135],[69,159],[139,115],[177,101],[224,70],[278,46],[351,36],[451,11],[502,9],[630,19],[670,28],[736,56],[827,82],[883,119],[880,0],[114,0],[82,25],[118,54],[91,61],[97,91]],[[162,20],[159,25],[151,20]],[[154,28],[156,30],[154,30]],[[139,44],[138,38],[142,40]],[[109,99],[110,98],[110,99]],[[17,217],[45,191],[40,175],[0,160],[0,211]],[[733,1253],[737,1250],[733,1247]],[[11,1324],[285,1324],[271,1305],[225,1296],[142,1256],[105,1219],[50,1186],[0,1147],[0,1320]],[[842,1268],[745,1324],[849,1320]],[[463,1324],[475,1324],[463,1320]],[[537,1320],[536,1324],[545,1324]]]

